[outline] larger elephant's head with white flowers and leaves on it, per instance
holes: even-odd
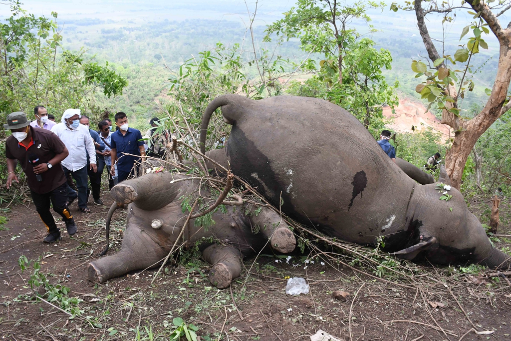
[[[441,166],[440,178],[435,184],[415,189],[406,231],[409,246],[394,254],[410,260],[423,255],[439,264],[480,263],[508,269],[511,258],[492,245],[461,193],[450,184]],[[400,237],[389,237],[392,238]]]

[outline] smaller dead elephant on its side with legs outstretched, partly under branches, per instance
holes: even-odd
[[[161,263],[189,215],[181,209],[182,200],[198,187],[198,180],[181,180],[188,177],[169,172],[151,173],[112,188],[110,194],[117,203],[129,204],[126,231],[121,251],[89,263],[89,280],[104,282]],[[208,196],[204,189],[201,191]],[[112,205],[108,220],[116,205]],[[225,209],[226,213],[219,209],[212,214],[215,224],[207,229],[195,226],[195,219],[190,219],[189,228],[183,231],[182,237],[192,245],[203,238],[223,243],[210,241],[200,246],[204,259],[214,264],[209,276],[218,288],[229,286],[230,281],[240,275],[242,257],[259,252],[267,243],[277,252],[294,250],[296,239],[293,233],[272,210],[245,204],[226,206]]]

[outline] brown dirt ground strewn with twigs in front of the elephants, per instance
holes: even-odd
[[[107,198],[108,194],[104,194]],[[107,205],[111,202],[105,200]],[[108,206],[91,206],[92,214],[77,213],[79,227],[65,232],[55,244],[43,244],[45,231],[33,204],[7,213],[0,231],[0,337],[6,340],[168,340],[181,317],[198,329],[201,340],[310,340],[323,330],[340,340],[511,340],[511,286],[507,278],[477,267],[417,266],[413,282],[379,279],[360,267],[332,265],[319,256],[299,252],[290,259],[260,255],[245,261],[245,271],[230,288],[218,290],[208,281],[208,265],[193,253],[180,255],[178,265],[167,265],[155,283],[156,269],[132,273],[95,284],[87,280],[87,264],[104,247],[104,218]],[[473,203],[481,221],[487,205]],[[501,204],[500,233],[509,233],[509,203]],[[119,249],[125,212],[118,211],[112,227]],[[59,225],[65,227],[63,223]],[[0,225],[1,228],[1,225]],[[510,240],[494,239],[498,247]],[[53,303],[30,300],[32,267],[21,271],[18,260],[40,261],[50,289],[71,289]],[[324,261],[324,262],[323,262]],[[314,262],[314,263],[313,263]],[[324,265],[322,264],[324,263]],[[444,276],[449,272],[450,275]],[[309,294],[285,292],[288,277],[303,277]],[[33,279],[33,277],[32,277]],[[335,290],[350,295],[333,297]],[[82,313],[71,316],[79,298]],[[64,309],[59,309],[64,308]],[[185,339],[182,337],[181,339]]]

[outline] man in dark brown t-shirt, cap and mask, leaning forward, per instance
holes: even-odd
[[[60,230],[50,213],[50,200],[53,210],[62,216],[69,236],[74,235],[77,228],[66,206],[66,178],[60,165],[69,154],[67,148],[50,130],[31,127],[23,112],[13,112],[7,116],[4,129],[12,132],[5,146],[9,172],[7,188],[13,181],[18,182],[14,170],[19,161],[27,176],[37,213],[49,232],[44,242],[53,243],[61,239]]]

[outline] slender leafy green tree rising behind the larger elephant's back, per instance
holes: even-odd
[[[293,95],[321,97],[355,115],[371,133],[383,127],[383,106],[397,104],[394,89],[382,69],[390,69],[392,57],[374,41],[361,38],[352,21],[369,23],[369,9],[383,9],[383,3],[357,1],[346,5],[337,0],[298,0],[284,18],[269,25],[265,40],[275,34],[281,39],[298,38],[301,49],[324,59],[316,69],[314,59],[301,70],[315,76],[303,85],[290,87]],[[373,28],[369,25],[369,31]]]

